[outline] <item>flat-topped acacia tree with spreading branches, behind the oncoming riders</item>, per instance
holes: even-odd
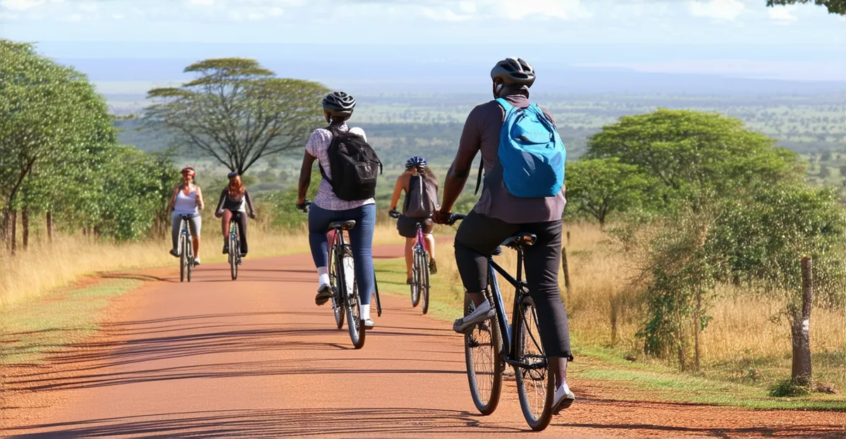
[[[305,143],[322,121],[328,90],[301,79],[280,79],[258,62],[212,58],[184,70],[196,79],[178,88],[151,89],[147,127],[166,127],[191,149],[244,173],[261,157]]]

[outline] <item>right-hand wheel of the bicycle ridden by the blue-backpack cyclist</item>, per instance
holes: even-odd
[[[523,417],[532,430],[547,428],[552,420],[552,399],[555,397],[555,377],[549,371],[537,324],[535,302],[525,296],[519,312],[514,316],[514,343],[520,366],[514,366],[517,393]]]

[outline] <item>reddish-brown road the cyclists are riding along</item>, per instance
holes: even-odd
[[[353,350],[330,308],[314,305],[308,256],[248,258],[236,282],[210,264],[180,284],[175,265],[115,301],[87,343],[5,371],[0,436],[846,437],[843,413],[634,404],[585,381],[572,383],[571,409],[527,433],[514,382],[496,413],[476,413],[462,338],[407,298],[382,297]]]

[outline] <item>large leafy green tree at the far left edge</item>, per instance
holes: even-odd
[[[63,183],[85,186],[81,176],[116,137],[105,100],[83,74],[26,43],[0,40],[0,60],[0,230],[8,242],[24,192],[47,203]]]

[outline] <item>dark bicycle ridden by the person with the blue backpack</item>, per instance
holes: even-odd
[[[465,215],[453,214],[448,224],[464,220]],[[514,367],[517,393],[523,416],[532,430],[547,428],[552,420],[555,397],[555,377],[549,370],[549,361],[541,344],[535,302],[523,279],[524,250],[535,243],[536,236],[519,233],[503,241],[492,256],[488,257],[488,292],[486,300],[496,311],[496,316],[473,325],[464,332],[464,360],[470,393],[476,409],[482,415],[491,415],[503,388],[503,369],[506,364]],[[517,275],[512,277],[493,261],[502,254],[502,247],[517,252]],[[514,307],[511,325],[505,313],[503,296],[497,283],[497,273],[514,286]],[[464,295],[464,316],[475,310],[469,295]]]

